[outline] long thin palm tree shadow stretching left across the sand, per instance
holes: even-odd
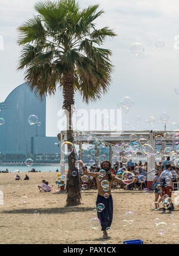
[[[29,208],[29,209],[13,209],[10,211],[2,211],[2,214],[66,214],[67,212],[85,212],[93,211],[95,207],[75,207],[75,206],[64,206],[59,208]]]

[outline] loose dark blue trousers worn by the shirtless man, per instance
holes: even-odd
[[[104,196],[97,196],[96,206],[98,203],[104,204],[104,209],[101,212],[97,212],[98,219],[101,221],[101,230],[104,231],[110,228],[113,220],[113,199],[112,195],[109,198],[104,198]]]

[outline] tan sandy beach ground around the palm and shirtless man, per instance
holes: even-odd
[[[109,239],[102,238],[100,225],[90,226],[97,217],[95,200],[97,190],[82,192],[82,204],[66,207],[66,193],[39,193],[37,185],[47,180],[54,189],[57,173],[28,173],[30,180],[16,181],[14,173],[0,174],[4,205],[0,205],[0,243],[123,243],[141,239],[144,243],[179,243],[179,206],[172,214],[153,211],[153,193],[139,190],[112,190],[114,212]],[[25,173],[20,174],[21,178]],[[176,194],[176,192],[175,192]],[[25,196],[25,198],[24,198]],[[176,195],[173,196],[172,199]],[[134,221],[128,223],[125,213],[134,212]],[[156,229],[156,218],[167,224],[164,235]]]

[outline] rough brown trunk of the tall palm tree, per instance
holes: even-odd
[[[67,110],[67,141],[73,143],[72,128],[72,106],[74,105],[74,76],[73,73],[65,74],[63,78],[63,109]],[[78,169],[75,168],[75,149],[68,156],[69,171],[67,174],[67,205],[81,204],[81,182],[79,180]],[[76,171],[77,175],[72,176],[72,171]]]

